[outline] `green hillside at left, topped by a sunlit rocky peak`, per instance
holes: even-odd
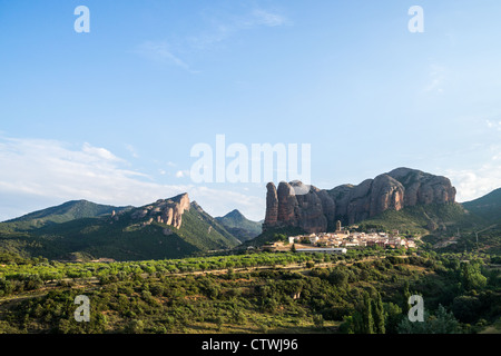
[[[8,229],[9,224],[2,228],[0,224],[0,250],[63,260],[139,260],[179,258],[239,244],[198,205],[188,200],[185,210],[179,210],[186,199],[187,195],[181,195],[115,215],[26,230]]]

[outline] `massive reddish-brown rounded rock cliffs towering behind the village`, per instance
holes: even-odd
[[[299,227],[307,233],[326,231],[336,220],[354,224],[387,209],[455,201],[455,188],[445,177],[397,168],[357,186],[332,190],[282,181],[267,186],[263,229]],[[301,191],[301,194],[298,194]]]

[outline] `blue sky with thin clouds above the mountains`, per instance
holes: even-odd
[[[320,188],[404,166],[480,197],[501,186],[500,14],[497,0],[0,0],[0,220],[183,191],[264,218],[265,181],[191,181],[191,147],[216,135],[310,144]]]

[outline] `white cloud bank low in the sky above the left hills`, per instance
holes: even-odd
[[[141,206],[188,192],[210,215],[235,208],[250,217],[264,212],[264,198],[195,185],[166,185],[141,172],[105,148],[80,148],[57,140],[0,136],[0,220],[68,200]],[[261,219],[261,218],[259,218]]]

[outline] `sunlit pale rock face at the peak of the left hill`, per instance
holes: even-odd
[[[134,211],[130,217],[135,220],[147,218],[148,225],[154,220],[159,224],[180,228],[183,214],[189,210],[188,195],[181,194],[170,199],[159,199],[155,204],[141,207]]]

